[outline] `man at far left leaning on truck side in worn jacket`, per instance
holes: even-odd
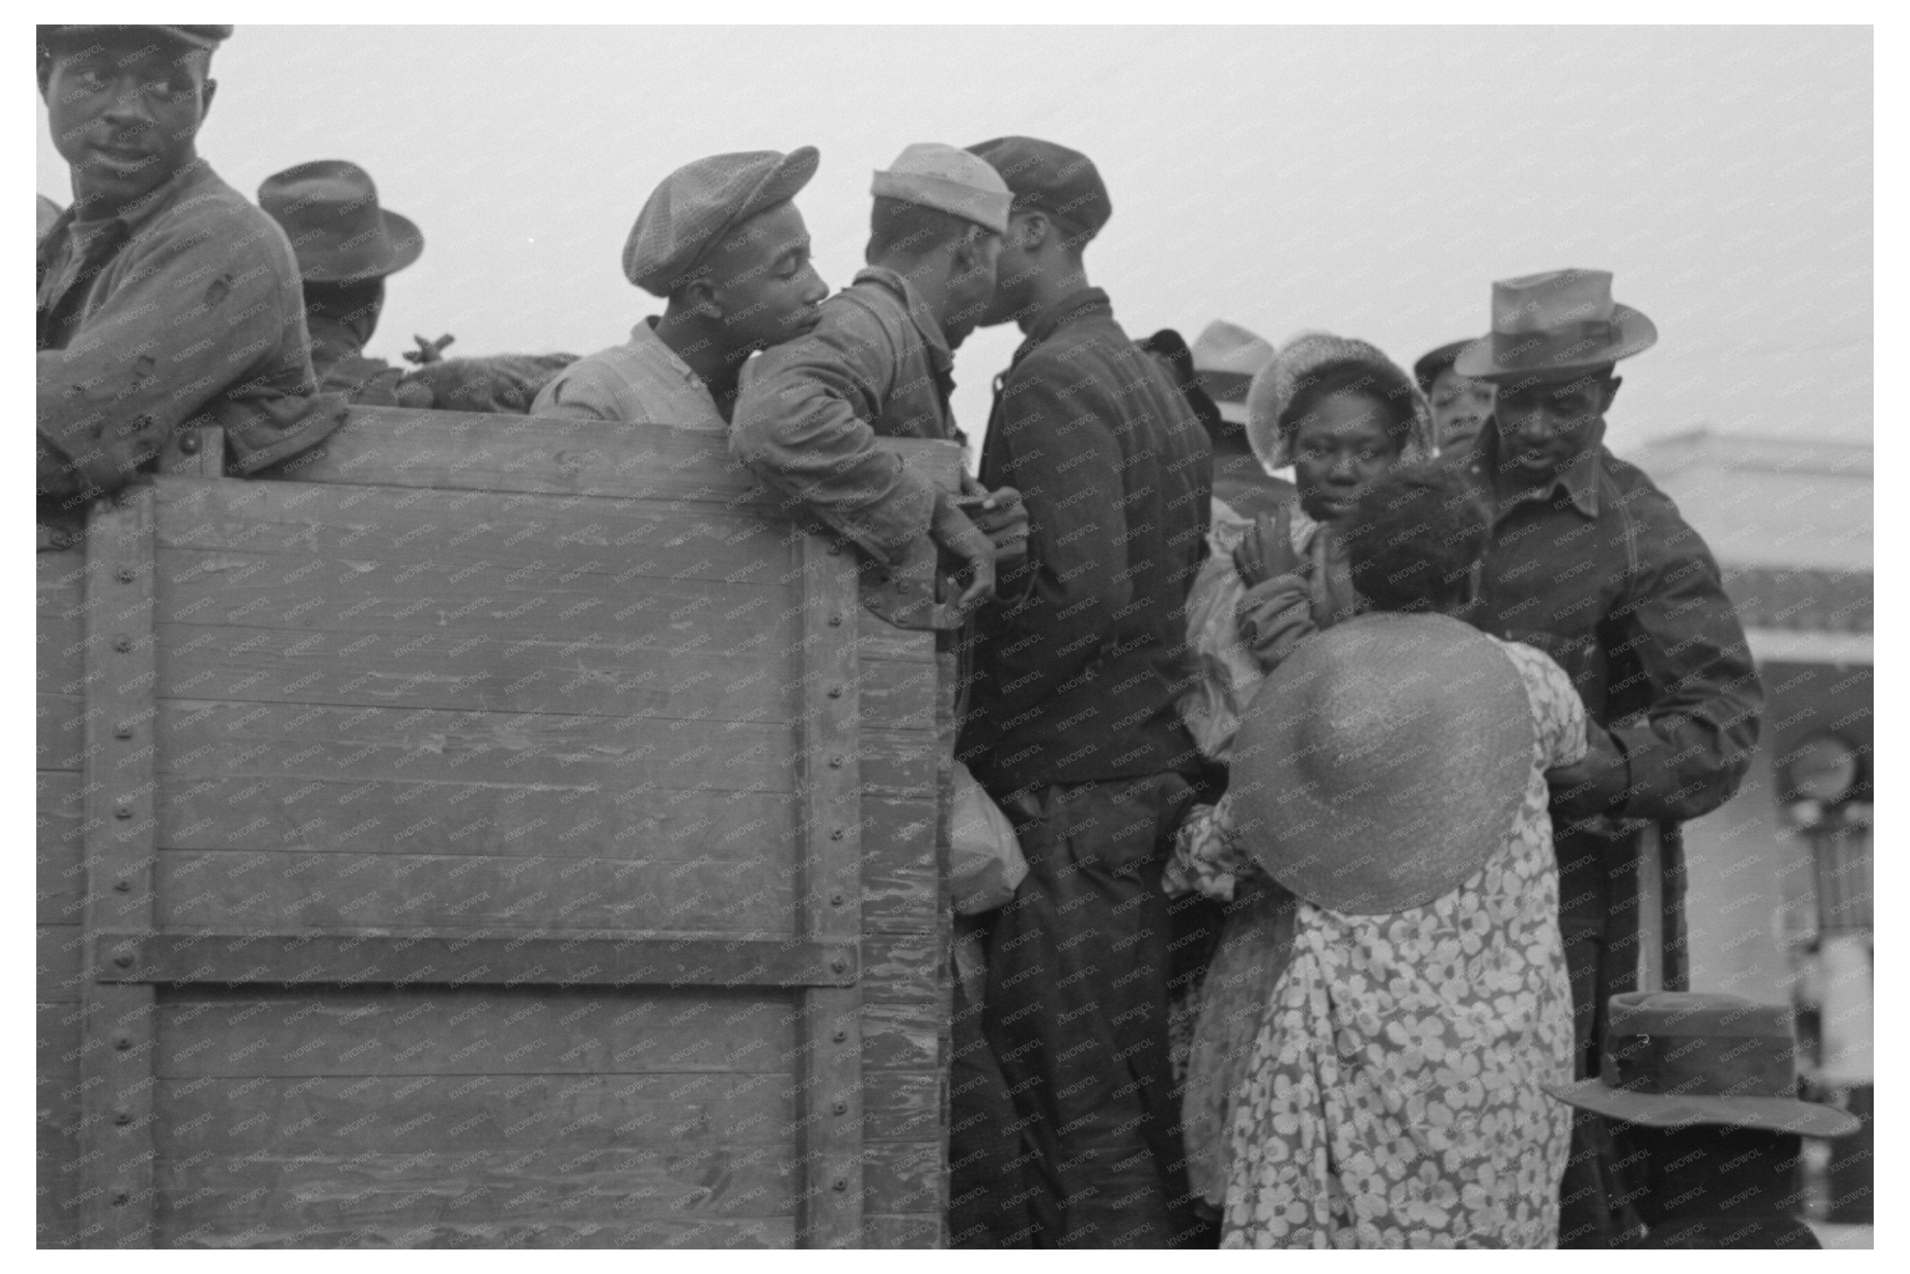
[[[40,27],[36,73],[73,206],[34,252],[42,546],[197,424],[252,474],[338,428],[317,393],[285,233],[197,153],[231,27]]]

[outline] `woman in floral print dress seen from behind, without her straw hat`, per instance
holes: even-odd
[[[1396,542],[1396,518],[1425,523],[1432,510],[1432,531],[1411,537],[1408,554],[1482,544],[1484,514],[1454,499],[1455,483],[1402,470],[1362,499],[1362,514],[1392,506],[1354,520],[1368,525],[1350,535],[1373,609],[1463,600],[1436,581],[1452,581],[1454,565],[1463,575],[1465,562],[1413,573]],[[1476,535],[1452,535],[1440,516],[1478,520]],[[1389,575],[1402,579],[1383,583]],[[1522,800],[1482,865],[1425,905],[1345,915],[1297,903],[1285,968],[1228,1094],[1224,1247],[1557,1243],[1570,1117],[1539,1085],[1572,1073],[1572,1010],[1545,770],[1583,753],[1585,714],[1549,657],[1475,640],[1511,661],[1530,701]],[[1180,833],[1175,875],[1211,896],[1230,896],[1236,881],[1280,890],[1236,817],[1234,793],[1198,814]]]

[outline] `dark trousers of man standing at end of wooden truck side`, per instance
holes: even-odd
[[[1028,879],[993,921],[989,1043],[1035,1152],[1039,1247],[1169,1247],[1192,1228],[1167,1056],[1161,865],[1178,774],[1005,802]]]

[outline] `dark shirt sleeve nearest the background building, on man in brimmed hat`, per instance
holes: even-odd
[[[1704,541],[1669,500],[1654,512],[1612,617],[1652,701],[1643,718],[1614,722],[1610,733],[1625,753],[1622,812],[1690,819],[1738,791],[1757,747],[1763,688]]]

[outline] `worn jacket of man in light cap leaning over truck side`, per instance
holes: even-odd
[[[928,531],[934,487],[875,437],[963,441],[953,355],[907,279],[879,265],[821,304],[806,336],[745,376],[730,451],[869,554],[896,562]]]

